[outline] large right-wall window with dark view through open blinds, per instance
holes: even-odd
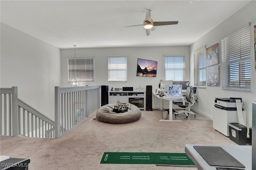
[[[250,91],[250,26],[221,40],[222,89]]]

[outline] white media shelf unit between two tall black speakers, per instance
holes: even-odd
[[[146,91],[108,91],[108,103],[131,103],[146,109]]]

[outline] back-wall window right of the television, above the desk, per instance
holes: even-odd
[[[165,56],[165,80],[185,81],[185,57]]]

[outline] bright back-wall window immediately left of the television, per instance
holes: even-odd
[[[108,82],[127,82],[127,57],[108,57]]]

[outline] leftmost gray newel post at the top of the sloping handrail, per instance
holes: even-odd
[[[12,136],[18,136],[18,87],[12,87]]]

